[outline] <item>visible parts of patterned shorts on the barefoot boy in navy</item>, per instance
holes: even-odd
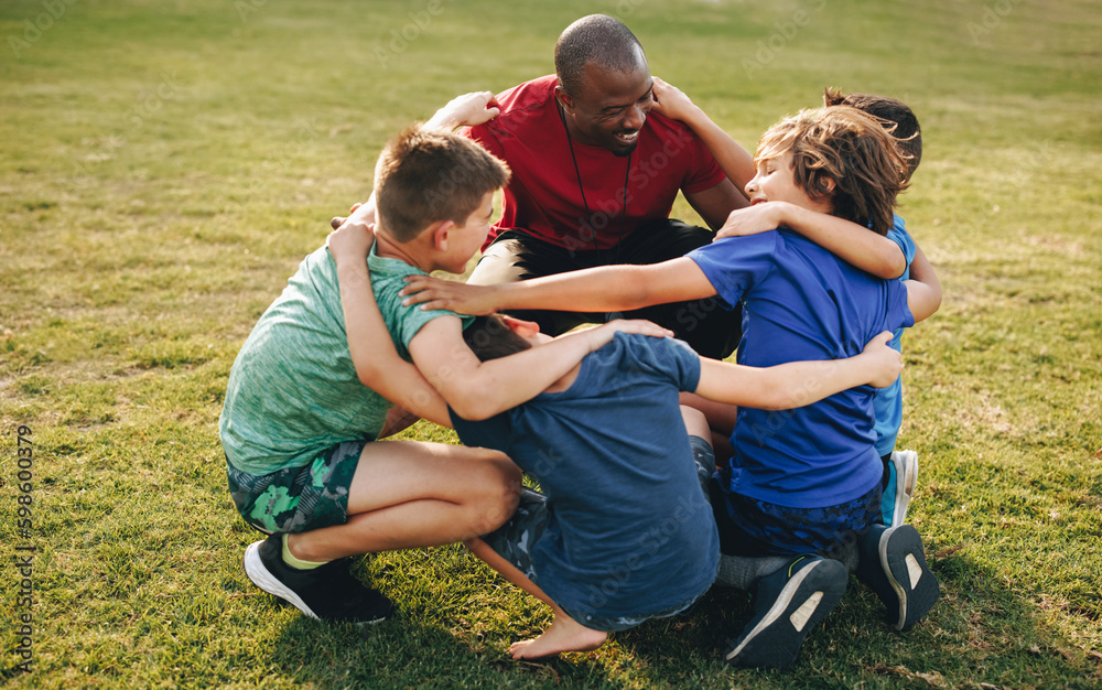
[[[520,572],[531,580],[536,586],[540,586],[539,575],[532,564],[532,547],[543,535],[548,525],[547,497],[539,492],[522,487],[520,489],[520,504],[517,511],[512,514],[501,527],[488,535],[483,535],[482,540],[489,548],[494,549],[498,556],[512,563]],[[571,611],[563,606],[566,615],[581,623],[585,627],[603,633],[615,633],[633,628],[644,621],[650,618],[663,618],[673,616],[689,608],[696,599],[673,606],[668,611],[648,614],[646,616],[594,616],[585,613]]]

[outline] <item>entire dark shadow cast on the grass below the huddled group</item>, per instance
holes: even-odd
[[[744,593],[723,589],[688,614],[619,633],[594,653],[512,661],[508,643],[541,624],[507,622],[504,635],[477,625],[453,633],[456,614],[434,618],[410,608],[364,628],[295,618],[274,642],[271,661],[320,688],[1094,687],[1102,679],[1091,649],[1047,626],[997,573],[952,549],[930,562],[942,597],[926,621],[897,633],[879,601],[851,579],[786,671],[722,664],[725,640],[752,616]]]

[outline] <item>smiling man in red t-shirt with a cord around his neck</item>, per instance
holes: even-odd
[[[465,130],[512,169],[501,219],[468,282],[493,284],[609,263],[657,263],[712,241],[670,219],[678,192],[716,229],[748,204],[754,176],[728,180],[692,131],[651,114],[653,79],[642,46],[618,20],[584,17],[555,44],[555,73],[497,97],[500,115]],[[737,186],[736,186],[737,185]],[[716,299],[631,314],[523,312],[551,335],[612,317],[649,319],[701,355],[726,357],[741,314]]]

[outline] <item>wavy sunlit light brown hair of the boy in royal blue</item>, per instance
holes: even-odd
[[[878,120],[849,106],[803,110],[766,130],[754,159],[789,152],[792,179],[809,197],[830,198],[832,215],[877,235],[888,231],[907,163]]]

